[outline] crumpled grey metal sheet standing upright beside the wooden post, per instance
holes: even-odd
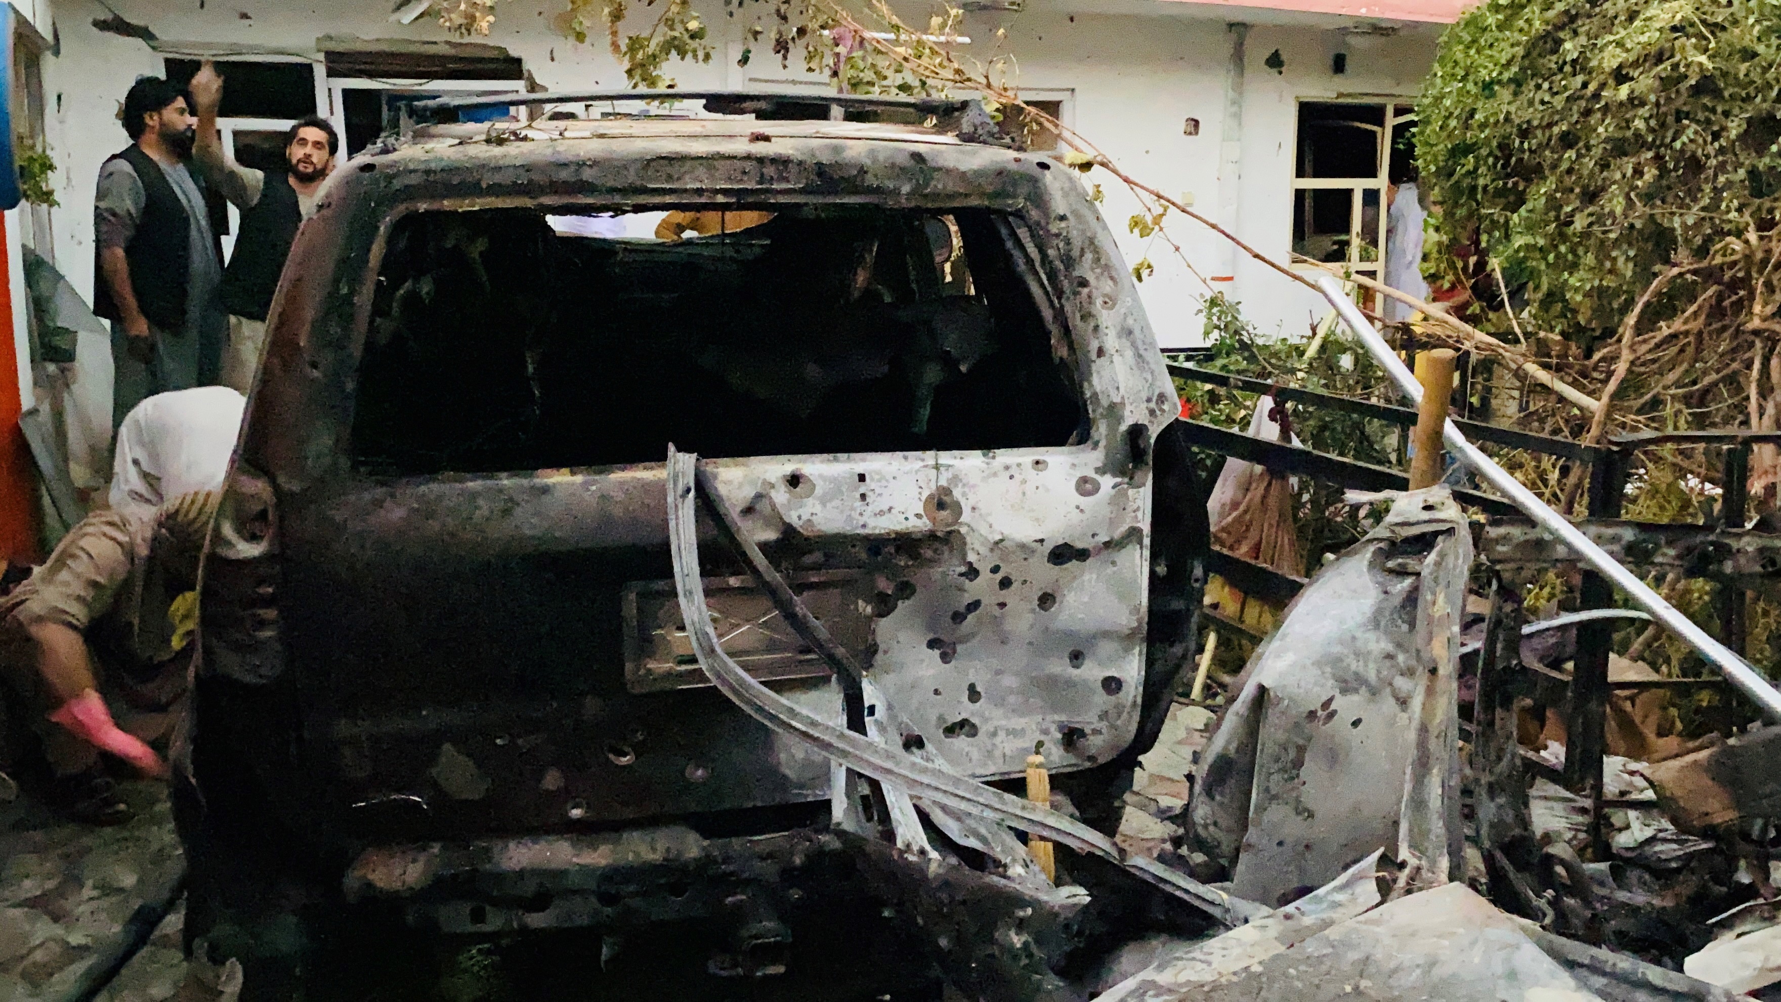
[[[1232,890],[1273,904],[1386,847],[1443,883],[1460,854],[1459,624],[1471,535],[1446,487],[1402,494],[1245,669],[1190,802]]]

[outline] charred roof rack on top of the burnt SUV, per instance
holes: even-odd
[[[541,91],[476,94],[463,98],[427,98],[401,105],[401,134],[415,125],[449,125],[459,112],[515,105],[588,105],[604,102],[703,102],[718,114],[753,114],[764,119],[842,119],[846,112],[905,112],[946,119],[940,128],[962,143],[1012,146],[976,98],[905,98],[880,94],[823,94],[782,91]]]

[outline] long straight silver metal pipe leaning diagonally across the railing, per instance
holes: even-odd
[[[1371,355],[1373,360],[1378,362],[1378,367],[1384,369],[1395,383],[1398,383],[1398,390],[1402,390],[1411,401],[1421,405],[1423,387],[1416,382],[1416,376],[1403,367],[1398,353],[1386,344],[1386,339],[1373,330],[1373,324],[1366,323],[1361,310],[1357,310],[1348,296],[1343,294],[1341,282],[1332,276],[1323,276],[1318,278],[1318,289],[1323,291],[1323,298],[1336,307],[1338,314],[1341,314],[1348,330],[1354,332],[1361,344],[1366,346],[1368,355]],[[1478,476],[1491,481],[1491,487],[1496,487],[1503,497],[1516,505],[1516,508],[1526,512],[1530,519],[1558,537],[1571,547],[1573,553],[1582,556],[1585,563],[1612,581],[1614,587],[1626,592],[1635,604],[1649,612],[1653,619],[1681,637],[1685,644],[1699,651],[1710,665],[1726,676],[1726,681],[1738,686],[1738,692],[1747,695],[1751,702],[1761,710],[1763,717],[1770,722],[1781,722],[1781,692],[1769,685],[1769,679],[1745,663],[1744,658],[1733,654],[1731,649],[1719,640],[1713,640],[1713,637],[1696,626],[1694,620],[1676,610],[1676,606],[1663,601],[1663,597],[1651,590],[1649,585],[1640,581],[1637,574],[1603,553],[1603,549],[1590,542],[1590,538],[1573,526],[1569,519],[1548,508],[1544,501],[1535,497],[1533,492],[1523,487],[1519,480],[1509,474],[1509,471],[1496,465],[1491,456],[1484,455],[1476,446],[1466,440],[1466,435],[1453,426],[1453,421],[1446,423],[1443,439],[1446,440],[1448,449],[1462,464],[1469,465]]]

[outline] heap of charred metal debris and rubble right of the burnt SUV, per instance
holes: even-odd
[[[1528,624],[1487,661],[1487,620],[1519,620],[1462,592],[1450,505],[1400,496],[1227,692],[1177,704],[1120,824],[1127,850],[1273,916],[1316,911],[1371,842],[1386,904],[1352,899],[1289,949],[1254,947],[1273,916],[1175,943],[1101,998],[1781,998],[1781,727],[1683,733],[1687,688],[1614,656],[1599,790],[1567,786],[1578,629]],[[1457,699],[1418,701],[1425,674]],[[1234,943],[1241,963],[1208,959]]]

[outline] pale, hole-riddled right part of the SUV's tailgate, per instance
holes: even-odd
[[[1131,742],[1151,499],[1104,476],[1090,451],[703,467],[757,542],[787,526],[805,537],[914,526],[958,540],[953,560],[908,565],[878,585],[892,608],[874,620],[871,661],[873,683],[958,772],[1024,776],[1038,742],[1053,768],[1074,768]],[[1085,478],[1095,496],[1083,496]],[[933,508],[940,497],[946,510]]]

